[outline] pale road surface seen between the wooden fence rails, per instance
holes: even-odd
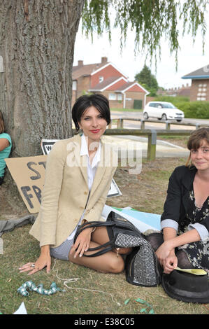
[[[111,118],[143,118],[143,113],[136,111],[136,112],[119,112],[119,111],[111,111]],[[182,120],[182,123],[194,123],[193,126],[188,126],[188,125],[172,125],[171,124],[171,130],[195,130],[196,123],[199,123],[201,125],[203,124],[208,124],[209,125],[209,119],[190,119],[190,118],[185,118]],[[113,125],[113,128],[115,128],[116,125]],[[140,121],[129,121],[129,120],[124,120],[124,128],[129,128],[129,129],[140,129]],[[145,123],[145,129],[166,129],[166,124],[161,123],[159,120],[159,123]]]

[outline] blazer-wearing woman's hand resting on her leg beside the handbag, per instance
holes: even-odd
[[[80,235],[78,235],[77,239],[75,240],[75,244],[73,244],[71,248],[70,255],[74,253],[74,258],[76,258],[78,255],[79,257],[82,257],[83,253],[85,253],[85,251],[87,251],[89,248],[92,230],[92,228],[86,228],[80,232]]]

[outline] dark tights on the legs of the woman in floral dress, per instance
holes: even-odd
[[[162,233],[152,233],[151,235],[147,235],[147,241],[150,242],[154,251],[157,251],[159,246],[164,242],[164,236]],[[194,268],[194,266],[189,262],[189,258],[187,257],[187,253],[185,251],[175,249],[175,255],[178,258],[178,267],[182,269],[186,268]]]

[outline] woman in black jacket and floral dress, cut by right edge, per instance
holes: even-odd
[[[192,132],[185,166],[169,179],[162,234],[147,239],[164,273],[175,267],[202,268],[209,274],[209,128]]]

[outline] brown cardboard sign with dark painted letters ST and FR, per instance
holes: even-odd
[[[22,200],[31,214],[38,213],[45,177],[47,155],[5,159]]]

